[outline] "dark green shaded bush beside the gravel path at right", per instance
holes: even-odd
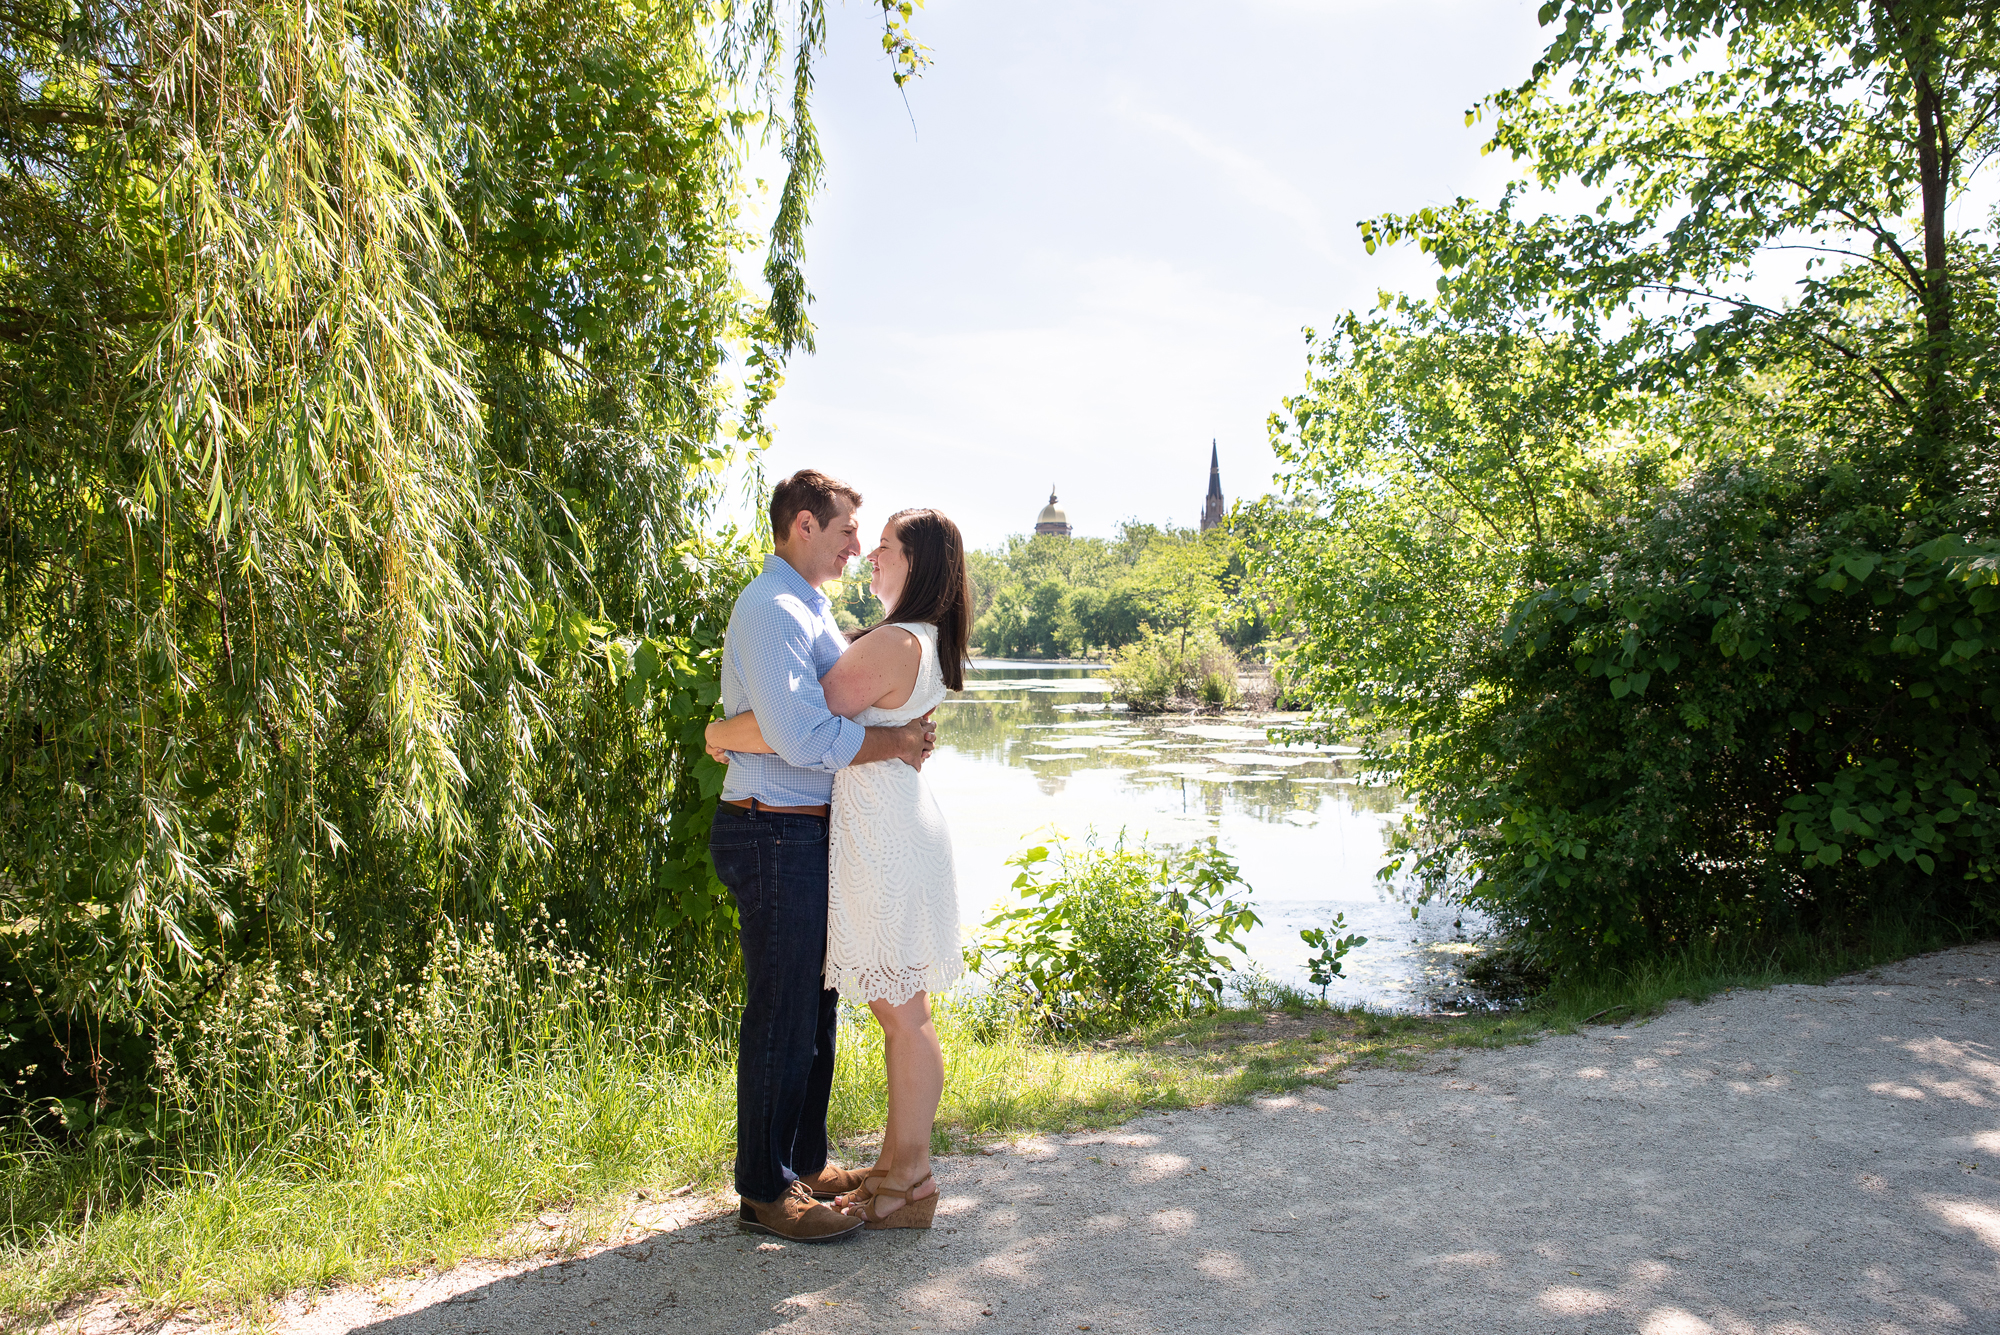
[[[1432,859],[1544,959],[2000,915],[2000,544],[1900,546],[1858,486],[1706,470],[1506,624]]]

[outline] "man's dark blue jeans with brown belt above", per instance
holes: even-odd
[[[826,1167],[840,993],[826,963],[826,817],[716,803],[716,873],[736,895],[744,1025],[736,1047],[736,1193],[776,1201]]]

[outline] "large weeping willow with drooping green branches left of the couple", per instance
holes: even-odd
[[[16,1091],[104,1103],[246,959],[724,925],[694,739],[742,562],[704,530],[810,346],[820,34],[818,0],[0,6]]]

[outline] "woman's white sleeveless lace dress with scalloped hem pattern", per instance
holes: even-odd
[[[910,701],[870,705],[868,727],[896,727],[944,699],[938,628],[902,626],[924,646]],[[828,821],[826,985],[850,1001],[902,1005],[938,993],[966,971],[958,945],[958,873],[952,831],[924,775],[900,759],[848,765],[834,775]]]

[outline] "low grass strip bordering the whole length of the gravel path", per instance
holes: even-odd
[[[1282,993],[1258,1009],[1096,1043],[980,1035],[968,1009],[940,1005],[948,1087],[936,1149],[1338,1083],[1348,1069],[1534,1041],[1586,1021],[1630,1023],[1676,999],[1818,983],[1970,939],[1944,927],[1890,927],[1848,943],[1800,937],[1690,951],[1550,989],[1508,1013],[1388,1015]],[[830,1117],[836,1139],[860,1147],[880,1127],[880,1111],[878,1031],[852,1011]],[[732,1137],[734,1069],[724,1045],[646,1047],[572,1023],[504,1057],[470,1051],[366,1103],[326,1111],[316,1125],[152,1163],[134,1205],[106,1213],[84,1195],[82,1217],[28,1237],[16,1227],[14,1247],[0,1255],[0,1313],[32,1329],[76,1299],[116,1291],[150,1311],[256,1319],[296,1289],[526,1253],[532,1247],[516,1225],[548,1207],[576,1205],[588,1215],[638,1187],[722,1187]],[[82,1155],[56,1163],[52,1147],[0,1151],[10,1219],[36,1177],[140,1171],[96,1153],[96,1163]],[[588,1229],[568,1245],[582,1241]]]

